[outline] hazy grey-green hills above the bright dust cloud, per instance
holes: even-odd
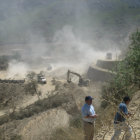
[[[0,0],[0,43],[53,41],[71,27],[83,40],[120,42],[139,27],[139,0]]]

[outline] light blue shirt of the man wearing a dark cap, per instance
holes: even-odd
[[[93,123],[95,118],[85,118],[85,117],[86,116],[94,116],[94,115],[95,115],[95,110],[94,110],[93,105],[84,104],[84,106],[82,107],[83,121]]]

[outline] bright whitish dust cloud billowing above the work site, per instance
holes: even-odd
[[[32,35],[32,40],[33,37]],[[29,44],[28,53],[24,53],[23,57],[27,62],[32,61],[35,65],[45,67],[51,64],[55,69],[65,67],[74,70],[85,71],[91,63],[96,63],[97,59],[105,59],[106,53],[111,52],[113,59],[117,59],[116,55],[120,54],[120,49],[112,43],[112,49],[98,49],[97,40],[93,40],[90,44],[74,33],[73,26],[66,25],[62,29],[56,31],[53,41],[48,43],[44,38],[36,44]],[[109,44],[106,40],[106,44]],[[29,55],[27,55],[29,54]]]

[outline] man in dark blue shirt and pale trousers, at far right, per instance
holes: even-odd
[[[126,119],[130,117],[130,113],[128,113],[127,105],[130,103],[130,98],[128,96],[123,98],[123,102],[120,103],[118,112],[114,118],[114,136],[111,140],[119,140],[119,136],[121,131],[125,131],[124,140],[130,140],[132,135],[131,127],[126,123]]]

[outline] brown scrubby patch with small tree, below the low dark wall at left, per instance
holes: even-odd
[[[11,106],[16,109],[16,102],[25,94],[37,95],[40,99],[41,92],[38,90],[36,74],[31,72],[27,75],[27,81],[24,83],[0,83],[0,108]]]

